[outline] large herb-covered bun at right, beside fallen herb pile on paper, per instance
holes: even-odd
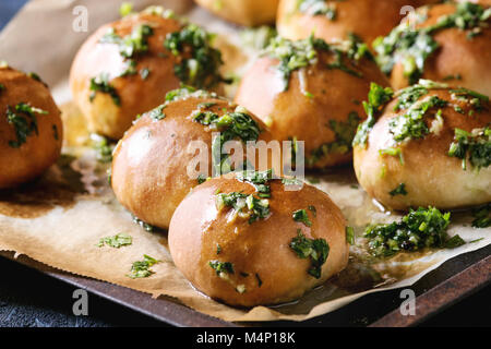
[[[373,87],[372,117],[355,139],[354,164],[361,186],[395,209],[490,202],[489,98],[428,81],[391,98],[391,92]]]

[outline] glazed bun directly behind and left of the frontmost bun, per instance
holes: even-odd
[[[182,198],[212,176],[212,156],[225,152],[224,142],[221,148],[215,147],[212,133],[220,131],[242,142],[268,142],[264,130],[262,122],[215,94],[171,92],[166,104],[144,113],[117,145],[111,176],[115,194],[134,216],[168,228]],[[199,164],[202,156],[208,161],[206,168]],[[228,170],[226,158],[221,156],[221,167],[217,161],[224,172]]]

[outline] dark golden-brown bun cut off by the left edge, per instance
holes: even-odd
[[[0,189],[15,186],[29,181],[58,159],[61,151],[63,129],[60,110],[49,89],[39,81],[11,68],[0,68]],[[15,127],[8,122],[8,107],[15,112],[15,106],[25,103],[48,113],[37,113],[37,130],[26,137],[20,147]],[[21,116],[22,113],[15,112]],[[32,122],[31,118],[24,117]]]

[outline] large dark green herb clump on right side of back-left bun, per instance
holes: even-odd
[[[184,84],[209,88],[220,82],[230,83],[218,72],[223,64],[221,53],[212,47],[212,39],[213,35],[194,24],[167,35],[164,46],[179,57],[175,74]],[[187,58],[181,56],[183,53]]]

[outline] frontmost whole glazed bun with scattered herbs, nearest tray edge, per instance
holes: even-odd
[[[286,190],[296,184],[267,173],[206,181],[170,222],[176,266],[230,305],[296,300],[348,264],[346,221],[328,195],[308,184]]]

